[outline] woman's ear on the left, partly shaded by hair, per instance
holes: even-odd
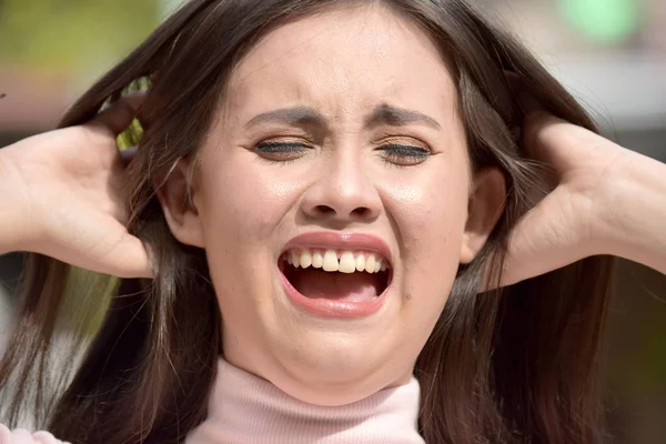
[[[188,160],[179,160],[158,188],[158,199],[173,236],[186,245],[203,248],[203,229],[194,205],[190,168]]]

